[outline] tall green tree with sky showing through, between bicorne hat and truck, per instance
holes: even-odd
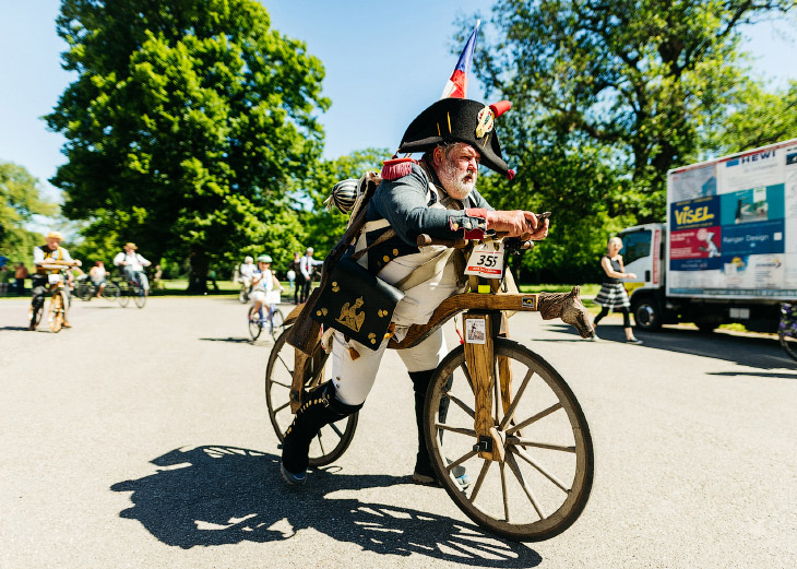
[[[700,156],[749,88],[739,26],[795,4],[499,0],[475,69],[513,103],[499,129],[519,171],[490,195],[554,212],[546,254],[524,266],[590,277],[608,234],[664,218],[667,170]]]

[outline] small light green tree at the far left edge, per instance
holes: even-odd
[[[23,166],[0,162],[0,253],[31,264],[31,251],[44,242],[25,226],[34,215],[55,215],[58,206],[43,198],[38,180]]]

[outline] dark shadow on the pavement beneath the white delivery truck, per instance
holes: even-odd
[[[575,336],[574,341],[588,342],[578,337],[575,330],[568,324],[547,324],[546,328],[552,332],[560,332],[566,335]],[[675,327],[664,327],[659,332],[641,332],[634,330],[637,337],[642,340],[642,345],[629,345],[629,349],[654,348],[681,354],[709,357],[712,359],[724,359],[741,366],[758,369],[793,368],[794,361],[781,347],[777,339],[765,336],[734,335],[724,332],[704,333],[699,330],[689,330]],[[626,334],[619,324],[602,324],[598,327],[598,335],[602,343],[616,342],[623,344]],[[567,340],[570,341],[570,340]],[[534,342],[558,342],[558,340],[534,340]],[[728,375],[716,372],[715,375]],[[762,374],[761,377],[782,379],[797,379],[794,374]]]

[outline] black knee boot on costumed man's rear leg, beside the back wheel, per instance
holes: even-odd
[[[321,427],[356,413],[362,407],[346,405],[335,396],[335,386],[328,381],[307,393],[305,404],[299,407],[285,432],[283,441],[283,477],[289,484],[304,484],[308,466],[310,442]]]

